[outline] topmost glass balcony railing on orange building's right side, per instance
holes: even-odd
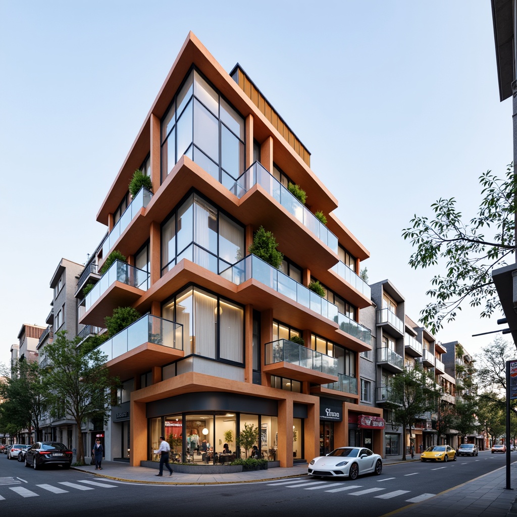
[[[338,238],[302,203],[296,199],[275,177],[258,163],[253,163],[250,168],[242,173],[237,180],[223,171],[222,184],[234,193],[242,197],[254,185],[260,185],[271,197],[278,201],[291,215],[296,217],[303,226],[313,233],[323,244],[338,254]]]

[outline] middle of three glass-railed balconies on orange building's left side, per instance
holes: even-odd
[[[149,287],[149,273],[115,261],[79,304],[79,323],[102,326],[113,309],[126,307]]]

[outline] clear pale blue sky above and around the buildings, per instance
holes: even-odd
[[[45,325],[60,258],[103,237],[97,211],[189,30],[310,150],[369,281],[390,279],[415,321],[433,271],[407,265],[402,229],[440,196],[470,219],[479,175],[512,160],[490,0],[0,0],[0,23],[0,362],[23,323]],[[500,315],[460,316],[437,339],[476,353]]]

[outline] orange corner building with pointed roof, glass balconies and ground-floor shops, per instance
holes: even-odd
[[[154,193],[131,200],[135,169]],[[140,466],[160,435],[178,457],[203,438],[235,450],[250,424],[280,466],[354,443],[382,453],[382,409],[358,392],[359,354],[371,351],[358,321],[371,299],[357,273],[369,253],[337,206],[244,70],[226,73],[189,33],[98,212],[109,235],[97,264],[113,250],[127,264],[115,262],[80,303],[84,325],[101,327],[119,306],[143,314],[101,345],[124,386],[108,459],[130,450]],[[260,226],[284,254],[280,269],[248,254]],[[314,280],[325,297],[308,289]]]

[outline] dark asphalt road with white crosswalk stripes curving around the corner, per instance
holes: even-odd
[[[303,476],[261,483],[174,486],[123,483],[60,467],[34,470],[0,454],[0,515],[69,517],[84,512],[112,517],[165,512],[176,517],[377,517],[504,465],[504,454],[481,452],[477,458],[448,463],[386,465],[381,476],[355,481]]]

